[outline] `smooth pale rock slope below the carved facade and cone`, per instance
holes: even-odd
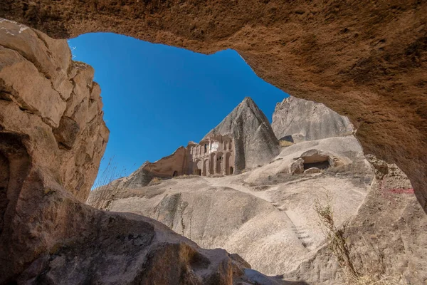
[[[326,170],[292,176],[293,157],[310,157],[313,147],[341,157],[346,162],[341,166],[348,169],[339,170],[339,176]],[[88,202],[152,217],[201,247],[237,253],[253,269],[275,276],[295,269],[322,243],[314,199],[322,198],[324,190],[332,192],[341,223],[357,212],[373,177],[362,148],[349,136],[285,147],[279,160],[241,175],[176,177],[133,189],[110,187],[110,195],[94,190]]]

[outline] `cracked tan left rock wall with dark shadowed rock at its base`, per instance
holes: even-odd
[[[274,284],[223,249],[81,202],[108,139],[101,109],[67,41],[0,21],[0,284]]]

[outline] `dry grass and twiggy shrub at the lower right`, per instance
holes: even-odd
[[[342,279],[345,284],[349,285],[397,285],[406,284],[401,277],[384,276],[384,264],[382,263],[381,254],[373,249],[379,258],[371,259],[365,256],[361,265],[355,262],[352,257],[352,249],[347,244],[345,232],[348,228],[348,222],[344,222],[341,227],[337,227],[334,222],[334,209],[332,207],[333,199],[330,193],[325,193],[326,204],[322,204],[319,199],[315,200],[315,211],[320,219],[320,226],[323,229],[330,252],[337,259],[340,269],[342,270]]]

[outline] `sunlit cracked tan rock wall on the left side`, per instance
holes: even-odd
[[[31,160],[84,201],[109,134],[93,68],[65,40],[0,21],[1,129],[27,135]]]

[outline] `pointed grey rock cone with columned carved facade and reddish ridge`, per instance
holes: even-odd
[[[154,177],[232,175],[270,162],[279,148],[263,112],[251,98],[245,98],[199,144],[189,142],[172,155],[144,162],[129,177],[112,181],[110,186],[144,187]]]

